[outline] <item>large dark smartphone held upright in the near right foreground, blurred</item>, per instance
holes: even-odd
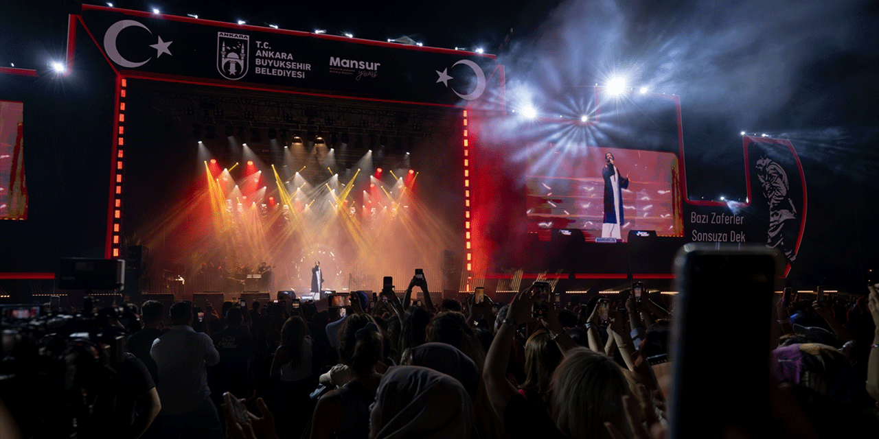
[[[722,437],[728,428],[763,435],[772,419],[773,299],[782,260],[762,244],[688,243],[678,251],[668,437]],[[730,306],[730,298],[746,306]],[[724,341],[723,349],[707,349],[718,340]],[[735,352],[733,361],[730,352]],[[728,390],[723,398],[705,385],[718,378]]]

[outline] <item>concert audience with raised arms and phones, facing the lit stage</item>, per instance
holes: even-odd
[[[879,291],[869,290],[777,298],[781,336],[766,334],[772,421],[730,425],[723,437],[879,432]],[[237,302],[199,318],[188,301],[170,310],[147,301],[127,336],[129,398],[114,436],[665,437],[667,420],[686,415],[667,403],[673,300],[622,291],[561,304],[546,292],[535,283],[503,306],[474,295],[434,305],[424,277],[413,277],[402,298],[393,288],[352,292],[342,318],[309,303]],[[723,377],[701,385],[718,399],[737,391]]]

